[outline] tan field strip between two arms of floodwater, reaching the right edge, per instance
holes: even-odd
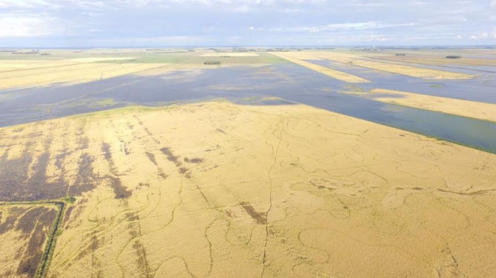
[[[478,103],[469,100],[457,100],[454,98],[442,98],[434,95],[421,95],[418,93],[386,89],[374,89],[369,93],[385,94],[385,96],[374,98],[385,103],[394,103],[412,108],[421,108],[496,122],[496,105],[492,103]],[[387,95],[391,95],[391,97]],[[395,98],[394,95],[400,95],[401,98]]]

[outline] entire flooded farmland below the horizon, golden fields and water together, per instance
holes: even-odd
[[[0,277],[496,273],[492,50],[253,49],[0,53]]]

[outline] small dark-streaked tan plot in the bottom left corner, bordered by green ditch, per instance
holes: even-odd
[[[0,277],[35,277],[56,216],[55,206],[0,204]]]

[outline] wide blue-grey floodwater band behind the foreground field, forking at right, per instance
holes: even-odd
[[[470,85],[475,84],[475,81],[431,83],[408,76],[351,67],[350,70],[346,67],[346,72],[373,81],[357,85],[363,90],[389,88],[451,97],[455,94],[465,96],[464,99],[496,103],[496,95],[490,89],[479,90],[485,87]],[[433,84],[440,84],[441,87],[433,88]],[[339,93],[349,90],[349,86],[348,83],[292,63],[258,68],[238,66],[174,71],[162,76],[120,76],[73,86],[0,91],[0,127],[130,104],[164,105],[227,98],[236,103],[253,105],[304,103],[496,153],[496,124],[493,122]],[[496,91],[493,86],[488,87]],[[267,96],[283,100],[262,100]]]

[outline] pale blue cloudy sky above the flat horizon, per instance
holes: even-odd
[[[0,0],[0,47],[496,45],[496,0]]]

